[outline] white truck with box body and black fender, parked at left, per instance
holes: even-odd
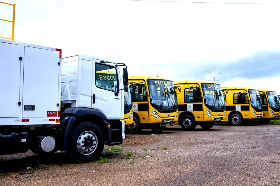
[[[100,71],[107,75],[96,78]],[[61,58],[60,49],[0,39],[0,154],[62,150],[76,162],[98,158],[104,144],[125,137],[127,83],[124,64]]]

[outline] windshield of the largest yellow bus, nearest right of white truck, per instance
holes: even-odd
[[[176,108],[178,102],[172,81],[148,79],[147,84],[150,94],[150,103],[161,107],[172,106]]]

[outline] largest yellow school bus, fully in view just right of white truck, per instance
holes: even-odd
[[[142,128],[161,132],[166,124],[172,125],[178,120],[177,96],[171,80],[147,76],[128,79],[133,105],[133,124],[127,127],[129,133],[137,133]]]

